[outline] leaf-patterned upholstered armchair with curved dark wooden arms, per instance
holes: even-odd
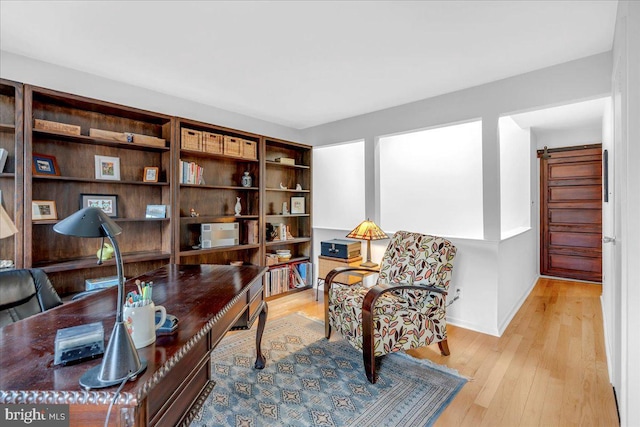
[[[334,328],[362,350],[371,383],[376,382],[376,357],[432,343],[448,356],[446,298],[455,256],[456,247],[442,237],[398,231],[382,257],[375,286],[333,283],[347,271],[375,270],[332,270],[324,286],[327,339]]]

